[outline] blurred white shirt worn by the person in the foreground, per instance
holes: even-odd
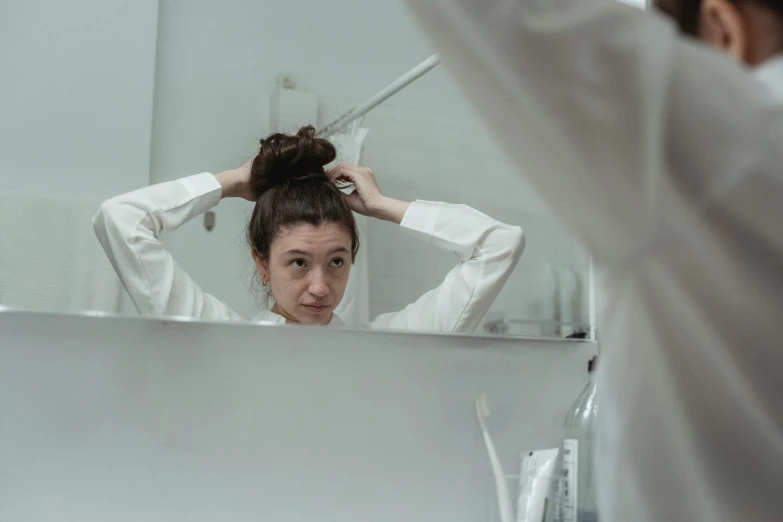
[[[783,62],[610,0],[408,4],[603,268],[601,522],[783,520]]]

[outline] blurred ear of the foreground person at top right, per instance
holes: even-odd
[[[747,59],[747,28],[731,0],[703,0],[699,38],[739,62]]]

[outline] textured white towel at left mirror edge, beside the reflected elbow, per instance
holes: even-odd
[[[0,194],[0,304],[119,312],[122,285],[95,239],[97,205]]]

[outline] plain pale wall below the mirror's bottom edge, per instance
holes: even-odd
[[[594,351],[2,312],[0,331],[9,522],[494,521],[475,396],[513,474],[562,439]]]

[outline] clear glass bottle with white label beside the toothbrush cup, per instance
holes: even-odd
[[[561,522],[597,522],[593,440],[596,414],[595,373],[598,358],[587,365],[590,382],[576,399],[565,418],[563,478],[560,481]]]

